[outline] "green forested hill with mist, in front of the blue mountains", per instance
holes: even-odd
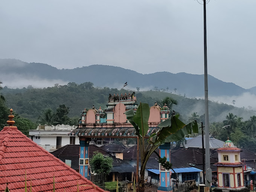
[[[129,93],[129,90],[122,90],[123,93]],[[69,83],[69,85],[56,85],[48,88],[21,88],[11,89],[4,87],[1,90],[7,100],[6,106],[11,107],[14,111],[23,117],[34,121],[46,108],[56,108],[60,104],[70,107],[70,117],[80,116],[84,108],[92,108],[92,105],[98,109],[106,107],[108,94],[120,93],[117,88],[94,88],[90,82],[83,84]],[[188,117],[197,112],[198,115],[204,114],[204,100],[192,99],[177,94],[165,93],[161,91],[141,91],[136,92],[138,102],[148,103],[149,106],[154,102],[166,96],[171,96],[178,101],[174,110],[181,114],[181,119],[188,120]],[[244,120],[255,114],[255,111],[246,108],[238,108],[233,105],[209,101],[209,119],[211,122],[222,122],[228,113],[236,114],[243,117]]]

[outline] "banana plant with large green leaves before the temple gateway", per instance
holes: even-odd
[[[163,143],[174,142],[182,139],[192,133],[198,133],[197,121],[185,124],[178,119],[179,115],[171,115],[168,119],[158,124],[159,130],[157,133],[152,134],[148,141],[148,145],[145,146],[145,135],[148,132],[148,119],[149,119],[149,105],[140,103],[136,113],[133,109],[125,112],[127,120],[133,125],[138,136],[141,155],[141,168],[140,168],[140,180],[139,180],[139,192],[145,192],[145,168],[146,163],[150,155],[155,152]],[[159,157],[159,155],[158,155]],[[137,157],[139,158],[139,157]],[[137,190],[136,190],[137,191]]]

